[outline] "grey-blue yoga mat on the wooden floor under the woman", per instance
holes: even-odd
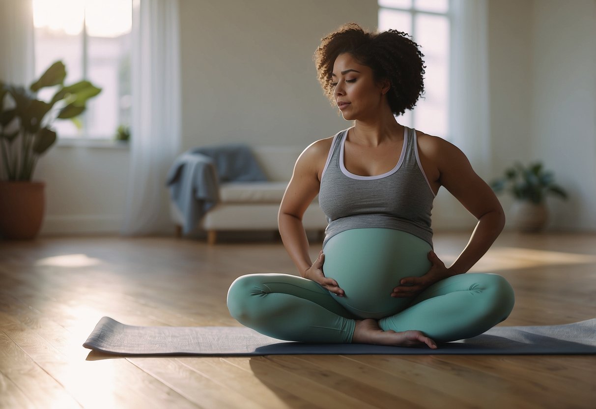
[[[302,343],[271,338],[246,327],[134,327],[109,317],[83,346],[113,355],[579,355],[596,354],[596,318],[554,326],[494,327],[465,340],[406,348],[351,343]]]

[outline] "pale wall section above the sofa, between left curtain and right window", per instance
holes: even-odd
[[[322,94],[312,55],[343,23],[376,29],[376,0],[183,0],[181,17],[185,148],[306,147],[350,126]]]

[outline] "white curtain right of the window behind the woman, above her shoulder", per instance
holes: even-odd
[[[450,134],[480,176],[492,170],[486,0],[452,0]]]

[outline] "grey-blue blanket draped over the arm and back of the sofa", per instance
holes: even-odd
[[[166,186],[184,216],[182,231],[188,234],[219,202],[219,183],[266,180],[247,145],[229,144],[186,151],[170,167]]]

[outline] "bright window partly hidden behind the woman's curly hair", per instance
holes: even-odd
[[[396,29],[421,46],[425,94],[399,122],[449,139],[449,0],[378,0],[378,30]]]

